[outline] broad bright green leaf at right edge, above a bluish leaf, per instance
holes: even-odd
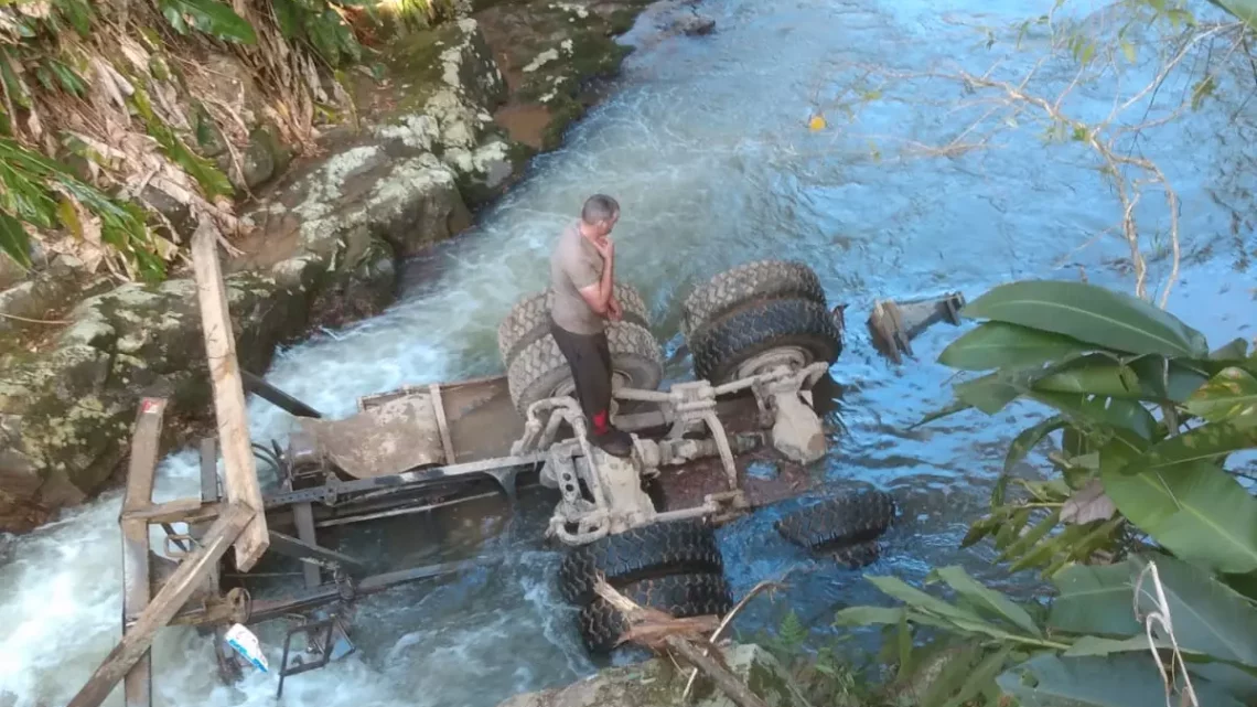
[[[1207,462],[1126,473],[1101,465],[1117,509],[1179,557],[1221,572],[1257,569],[1257,498]],[[1257,634],[1254,634],[1257,635]]]

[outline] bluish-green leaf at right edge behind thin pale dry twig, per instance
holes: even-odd
[[[1174,638],[1185,650],[1257,668],[1257,608],[1198,566],[1175,557],[1149,559],[1156,564]],[[1136,560],[1136,566],[1140,560]],[[1133,567],[1131,580],[1139,570]],[[1151,572],[1139,587],[1139,610],[1156,610]]]

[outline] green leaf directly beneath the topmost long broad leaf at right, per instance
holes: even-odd
[[[1004,322],[984,322],[939,353],[944,366],[965,371],[1024,369],[1091,351],[1076,338]]]

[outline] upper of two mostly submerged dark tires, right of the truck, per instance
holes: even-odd
[[[895,501],[865,491],[822,501],[774,523],[786,540],[813,551],[842,550],[876,540],[895,517]],[[861,552],[854,552],[859,559]]]

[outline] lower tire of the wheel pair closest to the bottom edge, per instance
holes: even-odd
[[[724,575],[693,572],[628,582],[617,590],[636,603],[674,619],[723,616],[733,609]],[[623,614],[601,596],[581,609],[581,638],[593,653],[610,653],[628,628]]]

